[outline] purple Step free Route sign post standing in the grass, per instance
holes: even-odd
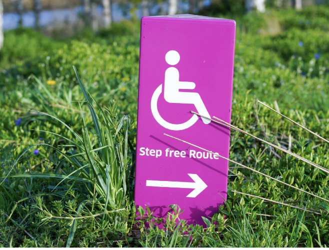
[[[165,217],[204,224],[227,194],[235,21],[197,15],[141,19],[135,204]]]

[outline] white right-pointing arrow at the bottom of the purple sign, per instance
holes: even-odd
[[[203,180],[194,173],[188,173],[194,182],[180,182],[180,181],[162,181],[162,180],[146,180],[146,186],[159,186],[159,187],[178,187],[178,188],[193,188],[186,197],[196,197],[200,192],[202,192],[207,185]]]

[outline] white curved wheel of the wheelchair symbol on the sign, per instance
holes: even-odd
[[[165,121],[161,115],[159,114],[158,110],[157,110],[157,99],[159,98],[160,94],[162,92],[162,84],[160,84],[154,91],[153,95],[152,95],[152,99],[151,99],[151,111],[152,114],[155,118],[155,120],[163,127],[170,129],[170,130],[183,130],[186,129],[188,127],[190,127],[191,125],[193,125],[198,117],[196,114],[193,114],[193,116],[186,122],[181,123],[181,124],[172,124],[169,123],[167,121]]]

